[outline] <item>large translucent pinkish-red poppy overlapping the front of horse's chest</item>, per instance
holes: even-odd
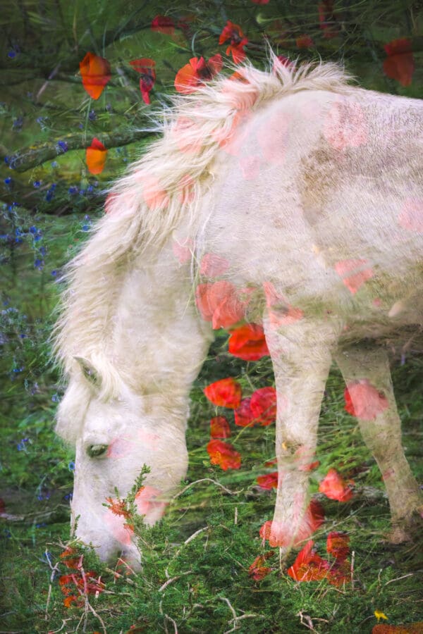
[[[245,317],[247,300],[240,300],[231,282],[205,282],[195,289],[195,303],[204,321],[212,321],[212,326],[229,328]]]

